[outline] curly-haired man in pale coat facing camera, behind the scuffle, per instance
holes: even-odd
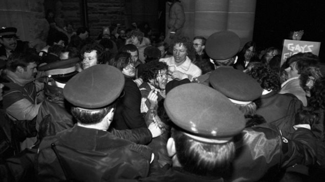
[[[159,61],[165,62],[168,67],[168,81],[178,79],[192,80],[202,74],[201,69],[194,65],[187,57],[193,50],[193,44],[188,37],[176,37],[172,43],[172,57],[162,58]]]

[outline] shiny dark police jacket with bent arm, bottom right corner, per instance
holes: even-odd
[[[235,139],[236,155],[231,177],[226,181],[257,181],[264,177],[276,181],[280,169],[316,161],[316,142],[312,132],[298,128],[291,139],[269,123],[245,128]]]

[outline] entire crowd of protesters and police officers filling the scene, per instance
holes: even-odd
[[[168,40],[136,23],[94,40],[49,19],[38,51],[0,30],[3,181],[325,179],[318,56],[281,65],[281,48],[173,24]]]

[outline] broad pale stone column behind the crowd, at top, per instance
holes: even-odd
[[[239,35],[242,46],[252,40],[256,0],[183,0],[181,3],[186,16],[183,32],[190,39],[229,30]],[[166,23],[168,13],[166,5]]]

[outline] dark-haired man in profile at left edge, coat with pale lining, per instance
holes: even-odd
[[[34,82],[38,58],[32,54],[13,54],[7,61],[3,108],[12,120],[32,120],[41,107],[36,95],[44,85]],[[28,138],[20,147],[30,147],[35,141],[36,138]]]

